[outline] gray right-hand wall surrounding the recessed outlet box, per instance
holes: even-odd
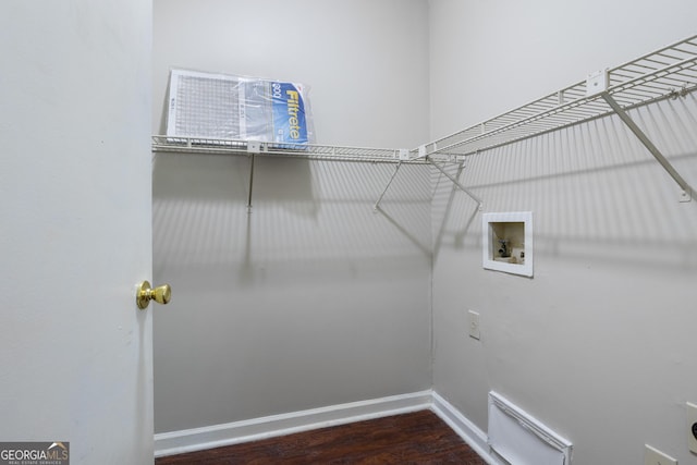
[[[692,1],[430,5],[431,136],[695,34]],[[457,89],[453,95],[451,89]],[[633,112],[697,185],[697,97]],[[484,211],[534,212],[535,277],[481,267],[481,215],[433,198],[433,387],[487,429],[493,389],[574,443],[574,464],[695,463],[697,201],[614,118],[467,161]],[[467,336],[467,309],[481,340]]]

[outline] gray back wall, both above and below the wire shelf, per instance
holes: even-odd
[[[428,137],[424,1],[156,0],[154,132],[170,68],[311,87],[318,143]],[[414,91],[418,89],[418,91]],[[431,386],[430,178],[391,166],[159,155],[156,432]]]

